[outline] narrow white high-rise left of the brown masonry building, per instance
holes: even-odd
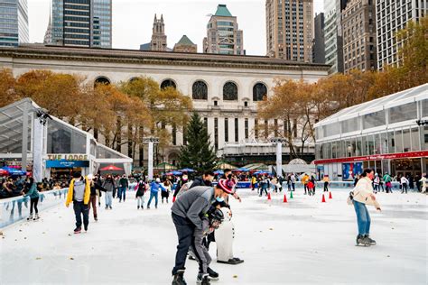
[[[330,74],[343,72],[343,42],[341,10],[347,0],[324,0],[325,63],[331,65]]]

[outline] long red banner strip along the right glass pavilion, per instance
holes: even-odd
[[[344,157],[344,158],[340,158],[340,159],[318,160],[318,161],[315,161],[315,164],[357,162],[357,161],[382,161],[382,160],[396,160],[396,159],[418,158],[418,157],[428,157],[428,151],[401,152],[401,153],[390,153],[390,154],[374,154],[374,155],[367,155],[367,156]]]

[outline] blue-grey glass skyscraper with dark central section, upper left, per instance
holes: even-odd
[[[111,0],[53,0],[45,43],[111,48]]]

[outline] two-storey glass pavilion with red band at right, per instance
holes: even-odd
[[[428,163],[428,84],[341,110],[315,124],[320,177],[352,180],[366,168],[419,175]]]

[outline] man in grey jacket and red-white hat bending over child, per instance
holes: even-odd
[[[191,246],[195,228],[202,230],[202,218],[216,198],[225,198],[233,191],[226,179],[220,179],[215,187],[198,186],[183,193],[172,205],[172,222],[177,230],[178,241],[175,266],[172,269],[172,285],[186,284],[184,265]]]

